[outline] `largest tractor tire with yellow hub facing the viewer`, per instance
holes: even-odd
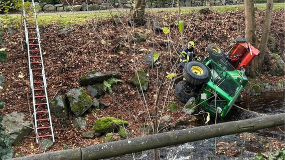
[[[183,75],[186,81],[193,85],[202,85],[209,80],[209,71],[207,67],[197,61],[186,63],[183,68]]]

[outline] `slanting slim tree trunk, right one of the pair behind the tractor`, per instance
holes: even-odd
[[[266,10],[265,10],[265,17],[264,17],[264,24],[261,34],[261,41],[259,44],[258,49],[260,50],[257,59],[258,59],[258,70],[262,69],[262,65],[264,63],[265,54],[266,54],[266,46],[268,42],[270,26],[271,26],[271,17],[272,17],[272,9],[273,9],[273,0],[267,0]]]

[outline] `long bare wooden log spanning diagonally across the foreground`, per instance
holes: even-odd
[[[186,143],[190,141],[280,126],[284,125],[284,117],[285,113],[280,113],[245,120],[230,121],[146,135],[141,137],[91,145],[83,148],[74,148],[17,157],[13,159],[102,159],[132,152]]]

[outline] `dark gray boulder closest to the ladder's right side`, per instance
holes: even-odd
[[[50,103],[51,112],[59,118],[68,118],[68,106],[66,101],[63,99],[62,95],[57,96]]]

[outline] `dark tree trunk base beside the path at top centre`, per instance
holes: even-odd
[[[132,22],[134,26],[143,26],[146,24],[145,19],[146,0],[136,0],[132,13]]]

